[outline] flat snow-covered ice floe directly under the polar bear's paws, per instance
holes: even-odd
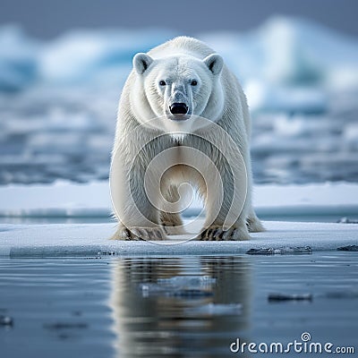
[[[265,222],[268,231],[245,242],[187,241],[195,234],[164,242],[111,241],[115,224],[0,225],[2,256],[95,256],[237,254],[252,248],[310,246],[312,251],[337,250],[358,243],[354,224]],[[199,231],[199,227],[198,227]]]

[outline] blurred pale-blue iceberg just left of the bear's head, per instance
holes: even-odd
[[[122,84],[131,71],[133,55],[149,51],[171,37],[164,30],[72,31],[43,49],[40,76],[43,81],[67,84]]]

